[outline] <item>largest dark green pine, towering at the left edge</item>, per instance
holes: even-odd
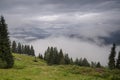
[[[10,49],[7,24],[3,16],[1,16],[0,19],[0,62],[0,67],[2,68],[11,68],[14,64],[14,59]]]

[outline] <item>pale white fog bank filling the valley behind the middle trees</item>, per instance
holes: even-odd
[[[73,59],[86,57],[89,61],[100,61],[103,65],[107,65],[110,46],[98,46],[92,42],[86,42],[78,39],[70,39],[65,37],[50,37],[40,39],[31,43],[38,53],[44,54],[48,46],[54,46],[63,49],[64,53],[68,53]],[[101,43],[102,44],[102,43]]]

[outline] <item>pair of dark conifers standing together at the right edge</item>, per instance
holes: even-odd
[[[108,66],[110,69],[116,69],[116,68],[120,69],[120,51],[118,53],[117,59],[115,57],[116,57],[116,44],[113,44],[108,62]]]

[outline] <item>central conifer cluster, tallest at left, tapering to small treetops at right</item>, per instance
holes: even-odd
[[[101,67],[100,62],[91,62],[91,64],[88,62],[86,58],[76,58],[73,60],[69,57],[68,54],[64,54],[63,50],[58,49],[56,47],[48,47],[47,50],[44,53],[44,57],[42,54],[39,54],[38,57],[40,59],[44,59],[48,65],[78,65],[78,66],[86,66],[86,67]]]

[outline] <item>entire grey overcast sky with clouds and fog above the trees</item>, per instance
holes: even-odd
[[[120,0],[0,0],[0,14],[11,39],[34,45],[36,54],[57,46],[106,64],[111,44],[120,44]]]

